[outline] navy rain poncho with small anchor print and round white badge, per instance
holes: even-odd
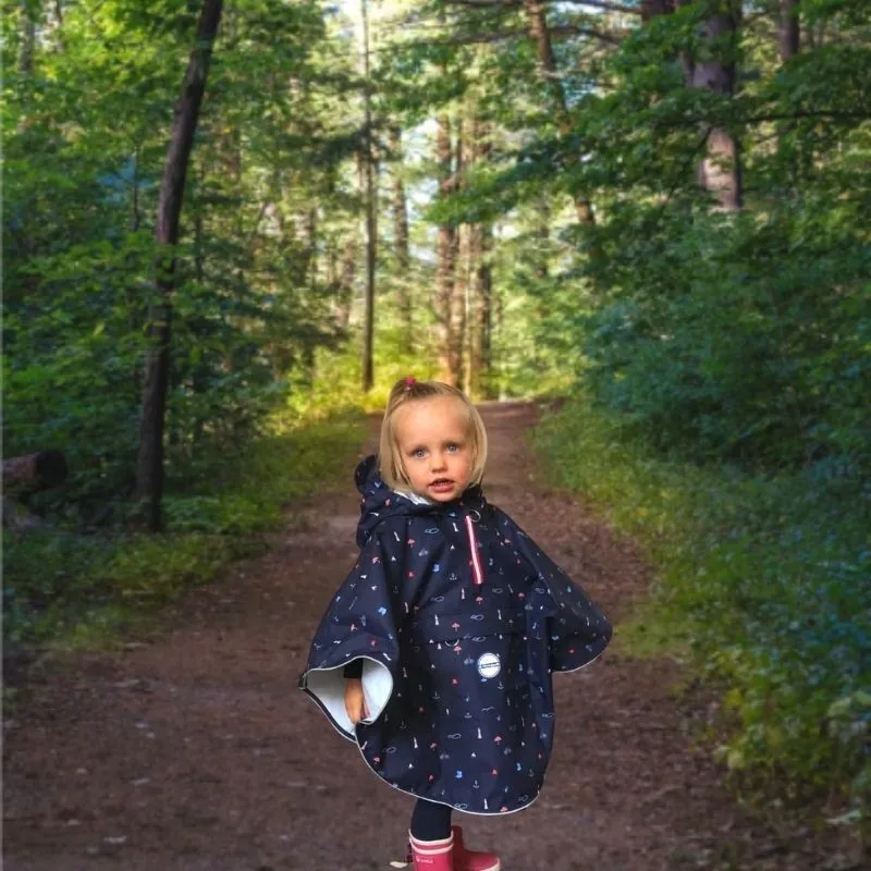
[[[550,759],[551,671],[591,662],[611,626],[480,488],[416,504],[384,486],[375,457],[356,480],[359,560],[299,686],[392,786],[471,813],[520,810]],[[343,682],[360,657],[389,672],[392,692],[372,722],[348,731],[314,677]]]

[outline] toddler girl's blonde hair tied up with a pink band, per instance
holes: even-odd
[[[412,484],[405,471],[396,432],[393,424],[397,409],[409,402],[429,400],[433,396],[453,396],[459,400],[468,415],[469,440],[471,442],[471,477],[469,484],[481,482],[487,465],[487,430],[478,409],[462,390],[441,381],[417,381],[414,378],[398,380],[390,391],[388,407],[381,424],[381,441],[378,449],[378,463],[381,477],[391,490],[410,492]]]

